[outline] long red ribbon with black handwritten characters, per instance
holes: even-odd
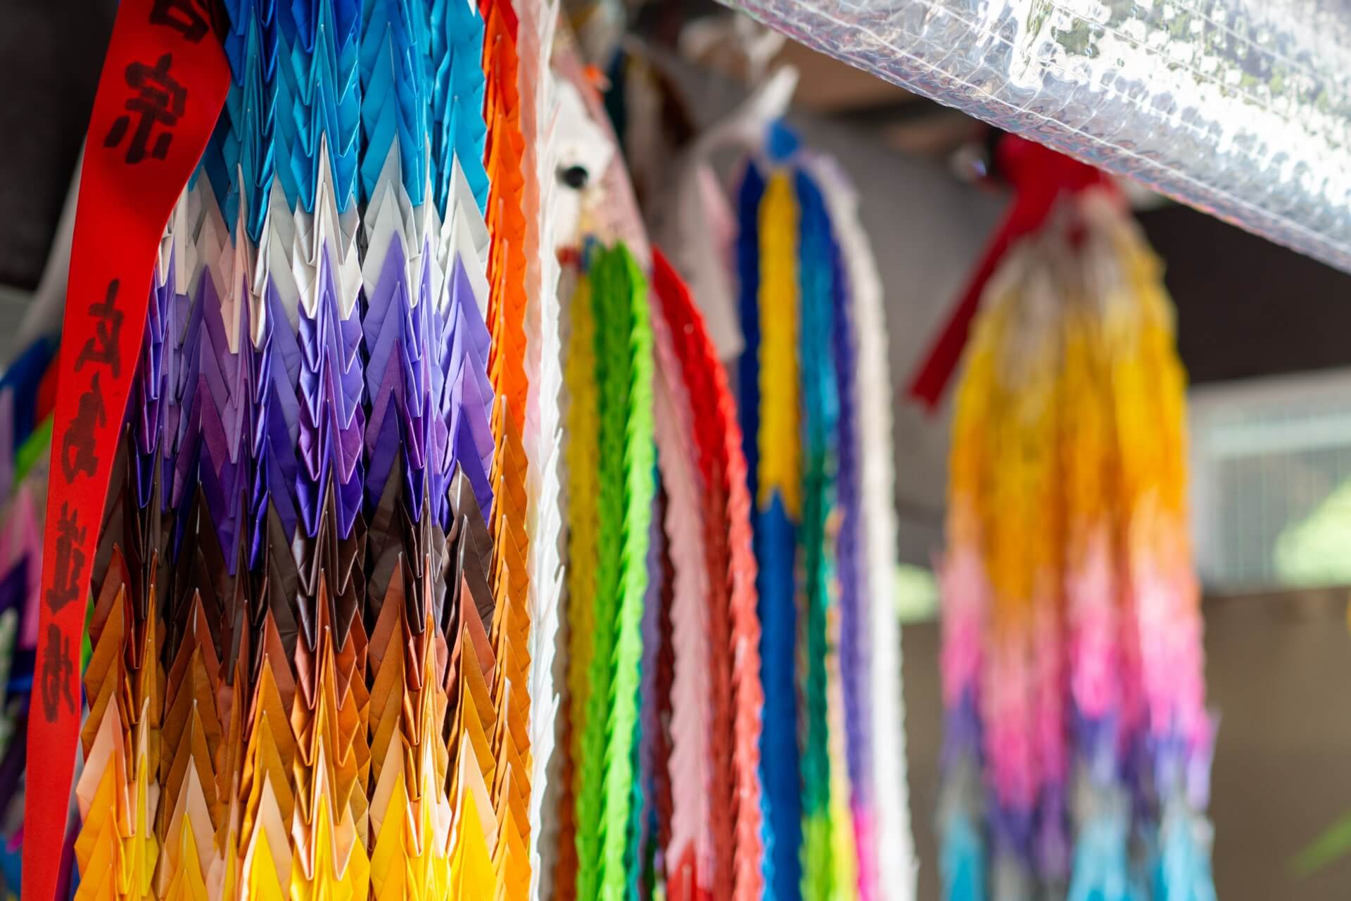
[[[230,66],[197,0],[122,0],[89,118],[51,431],[24,798],[23,897],[61,879],[89,577],[165,223]]]

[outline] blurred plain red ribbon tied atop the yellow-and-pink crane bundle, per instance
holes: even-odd
[[[1113,186],[1101,170],[1017,135],[1005,135],[1000,140],[996,168],[1013,185],[1013,204],[990,236],[975,272],[952,305],[952,315],[915,370],[907,389],[911,397],[931,412],[943,398],[966,349],[966,336],[981,305],[985,282],[994,274],[1009,247],[1042,227],[1062,193],[1078,193],[1090,186]]]

